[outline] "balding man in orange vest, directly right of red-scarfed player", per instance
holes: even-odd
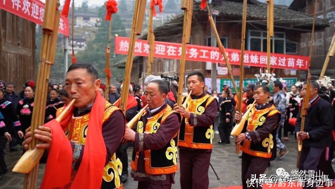
[[[169,87],[151,81],[145,90],[148,109],[137,125],[126,128],[125,139],[134,141],[131,176],[138,189],[170,189],[175,183],[180,114],[165,103]]]

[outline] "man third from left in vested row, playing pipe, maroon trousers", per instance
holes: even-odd
[[[187,87],[192,93],[187,107],[174,108],[183,116],[179,135],[181,189],[207,189],[209,185],[208,169],[218,102],[204,92],[204,81],[200,72],[190,73]]]

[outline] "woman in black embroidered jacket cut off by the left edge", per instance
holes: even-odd
[[[21,124],[18,121],[13,104],[4,99],[5,89],[6,83],[0,80],[0,136],[5,136],[0,137],[0,180],[1,176],[7,173],[3,149],[5,149],[7,141],[12,140],[9,134],[12,125],[19,137],[23,137],[23,133],[20,131]]]

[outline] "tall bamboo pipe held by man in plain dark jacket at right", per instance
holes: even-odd
[[[311,63],[312,63],[312,55],[313,55],[313,41],[314,41],[314,30],[315,30],[315,21],[316,21],[316,12],[318,7],[318,0],[315,0],[314,5],[314,17],[313,17],[313,27],[312,27],[312,39],[311,39],[311,47],[310,47],[310,57],[309,57],[309,67],[308,67],[308,75],[307,75],[307,88],[306,88],[306,95],[303,99],[303,105],[302,109],[300,111],[300,117],[301,117],[301,125],[300,125],[300,132],[303,132],[305,129],[305,121],[306,121],[306,115],[307,115],[307,109],[310,101],[310,89],[311,89]],[[303,149],[303,141],[298,140],[298,158],[296,161],[296,167],[299,169],[300,164],[300,156],[301,156],[301,150]]]

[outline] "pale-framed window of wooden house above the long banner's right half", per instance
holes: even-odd
[[[285,41],[284,32],[275,32],[274,37],[270,41],[271,52],[285,53]],[[248,50],[267,52],[267,47],[266,31],[248,31]]]

